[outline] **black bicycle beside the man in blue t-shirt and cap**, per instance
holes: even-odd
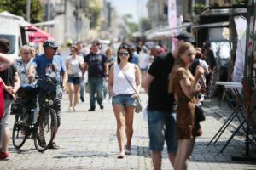
[[[38,80],[44,80],[47,82],[47,89],[49,86],[61,84],[55,82],[51,77],[36,77]],[[57,116],[53,106],[55,96],[45,91],[44,102],[40,105],[36,122],[33,122],[33,109],[35,106],[35,100],[38,94],[38,88],[32,85],[21,86],[18,92],[18,98],[15,105],[16,110],[12,111],[15,114],[15,123],[13,128],[13,144],[16,149],[20,149],[25,144],[26,139],[31,136],[34,140],[35,148],[39,152],[44,152],[49,148],[49,144],[52,143],[56,129],[57,129]],[[37,101],[37,100],[36,100]],[[15,113],[14,113],[15,112]],[[28,120],[26,120],[28,118]]]

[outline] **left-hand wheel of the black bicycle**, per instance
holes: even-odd
[[[20,149],[29,136],[29,125],[22,122],[22,118],[19,115],[15,115],[15,124],[13,127],[13,144],[16,149]]]

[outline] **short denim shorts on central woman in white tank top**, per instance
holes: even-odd
[[[131,98],[133,94],[118,94],[112,97],[112,105],[136,106],[137,100]]]

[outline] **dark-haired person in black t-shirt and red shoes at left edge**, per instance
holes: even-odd
[[[5,58],[4,54],[8,54],[10,49],[9,41],[3,38],[0,38],[0,58]],[[11,59],[5,59],[5,61]],[[10,107],[13,99],[15,99],[15,93],[20,88],[20,78],[18,72],[15,68],[15,65],[10,65],[7,69],[0,72],[0,80],[2,80],[4,88],[4,109],[3,109],[3,129],[0,129],[0,132],[3,132],[3,137],[0,138],[2,145],[0,146],[0,160],[6,159],[9,157],[8,145],[9,145],[9,114]]]

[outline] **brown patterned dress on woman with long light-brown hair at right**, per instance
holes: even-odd
[[[173,92],[177,96],[177,139],[192,139],[201,136],[199,122],[195,122],[196,98],[189,99],[181,88],[180,81],[189,78],[185,69],[179,69],[172,80]],[[189,78],[192,83],[193,80]]]

